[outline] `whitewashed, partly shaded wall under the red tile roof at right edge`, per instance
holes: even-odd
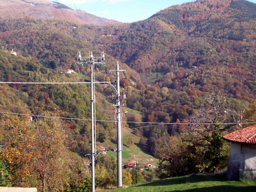
[[[241,148],[242,146],[242,148]],[[239,180],[239,169],[244,170],[249,179],[256,178],[256,145],[231,143],[228,160],[228,180]]]

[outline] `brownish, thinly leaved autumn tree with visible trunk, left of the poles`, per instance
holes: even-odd
[[[60,119],[54,117],[39,119],[35,124],[35,131],[35,140],[38,142],[33,146],[33,165],[40,176],[43,191],[49,188],[61,191],[68,184],[65,175],[70,171],[67,169],[69,153],[65,145],[67,134]]]

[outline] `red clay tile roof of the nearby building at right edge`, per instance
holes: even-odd
[[[235,132],[224,135],[223,139],[230,142],[256,144],[256,125],[242,129],[242,138],[241,130],[237,130]]]

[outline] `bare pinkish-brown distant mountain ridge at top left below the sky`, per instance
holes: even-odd
[[[64,4],[48,0],[0,0],[1,18],[33,17],[35,19],[60,19],[78,24],[108,25],[119,21],[97,17],[82,10],[73,10]]]

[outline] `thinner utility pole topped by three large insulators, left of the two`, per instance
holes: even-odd
[[[95,60],[97,60],[95,62]],[[95,191],[95,171],[94,171],[94,160],[95,160],[95,148],[94,148],[94,116],[93,116],[93,106],[94,106],[94,89],[93,89],[93,70],[94,70],[94,64],[99,64],[99,65],[105,65],[106,63],[104,62],[105,60],[105,55],[104,52],[101,53],[101,57],[93,57],[92,51],[89,53],[89,57],[81,57],[81,52],[77,53],[77,62],[76,64],[79,64],[80,66],[84,66],[84,64],[91,64],[91,115],[92,115],[92,122],[91,122],[91,127],[92,127],[92,145],[91,145],[91,150],[92,150],[92,156],[91,156],[91,161],[92,161],[92,192]]]

